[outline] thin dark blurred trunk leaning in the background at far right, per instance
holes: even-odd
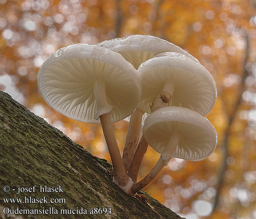
[[[224,141],[222,144],[222,150],[223,150],[223,158],[222,158],[222,163],[220,166],[220,172],[218,175],[218,179],[217,179],[217,184],[216,184],[216,195],[213,201],[213,210],[212,212],[214,212],[220,202],[220,193],[221,190],[224,186],[224,173],[227,170],[227,158],[228,158],[228,147],[229,147],[229,138],[231,135],[231,128],[232,128],[232,124],[235,120],[235,118],[237,117],[237,113],[239,111],[239,106],[242,103],[242,94],[245,91],[245,79],[248,77],[249,75],[249,71],[246,69],[246,64],[249,60],[249,52],[250,52],[250,45],[249,45],[249,36],[248,34],[245,35],[245,42],[246,42],[246,47],[245,47],[245,60],[244,60],[244,67],[243,67],[243,74],[242,74],[242,78],[241,78],[241,89],[240,89],[240,93],[238,95],[237,101],[234,104],[233,107],[233,111],[230,115],[228,115],[228,113],[226,113],[226,115],[228,115],[228,122],[227,122],[227,128],[225,129],[225,134],[224,134]]]

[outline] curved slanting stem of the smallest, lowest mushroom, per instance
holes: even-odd
[[[180,135],[177,132],[171,135],[168,145],[162,152],[158,162],[155,164],[153,169],[141,181],[133,184],[133,186],[131,187],[132,194],[136,194],[137,191],[141,190],[146,185],[148,185],[162,170],[162,168],[168,164],[169,160],[172,158],[173,152],[175,151],[179,143],[179,140]]]

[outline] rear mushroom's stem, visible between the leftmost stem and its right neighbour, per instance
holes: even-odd
[[[123,164],[126,171],[128,171],[131,165],[135,150],[141,137],[141,120],[143,114],[144,112],[140,109],[135,109],[130,116],[126,141],[123,149]]]

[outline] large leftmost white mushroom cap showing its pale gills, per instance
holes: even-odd
[[[66,117],[87,123],[94,119],[94,81],[105,81],[112,122],[128,117],[141,95],[141,80],[119,53],[100,46],[74,44],[52,53],[37,74],[43,99]]]

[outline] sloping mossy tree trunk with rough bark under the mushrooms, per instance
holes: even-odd
[[[111,180],[111,164],[90,154],[45,120],[0,91],[0,218],[20,219],[180,219],[151,198],[131,198]],[[4,186],[10,191],[4,192]],[[35,192],[20,194],[18,186]],[[40,185],[63,187],[63,192],[40,192]],[[15,189],[15,191],[13,191]],[[25,203],[29,198],[65,198],[65,203]],[[23,198],[4,203],[4,198]],[[61,214],[61,209],[87,209],[87,214]],[[111,208],[111,214],[90,214],[91,208]],[[9,209],[56,209],[58,214],[6,215]],[[56,212],[56,211],[55,211]],[[95,213],[95,212],[94,212]]]

